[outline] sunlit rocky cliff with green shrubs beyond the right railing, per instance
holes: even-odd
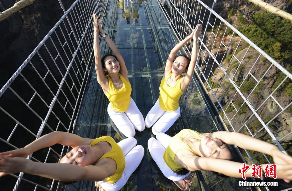
[[[265,2],[271,3],[287,12],[291,12],[290,1]],[[253,43],[257,44],[262,50],[278,61],[285,69],[290,72],[292,71],[290,62],[291,49],[287,48],[289,43],[286,44],[286,41],[288,42],[292,37],[292,33],[289,32],[291,31],[291,24],[289,22],[277,16],[268,15],[265,11],[260,11],[261,9],[259,7],[250,3],[246,4],[244,1],[218,2],[215,4],[214,9],[244,35],[248,36]],[[269,17],[270,20],[265,17]],[[283,23],[286,24],[281,25]],[[208,29],[206,34],[208,38],[205,39],[204,43],[206,45],[208,44],[208,49],[215,55],[218,61],[222,60],[222,66],[225,69],[228,67],[226,73],[233,78],[240,88],[240,91],[253,104],[254,109],[264,123],[268,125],[277,139],[281,140],[282,146],[291,155],[292,137],[291,135],[285,138],[283,137],[292,131],[292,106],[288,107],[283,112],[281,111],[282,108],[287,107],[292,101],[292,81],[288,78],[281,84],[282,80],[286,77],[283,72],[271,65],[271,63],[261,56],[258,51],[253,48],[248,49],[248,44],[243,39],[240,41],[239,36],[235,34],[232,37],[231,30],[227,29],[225,32],[225,29],[226,25],[221,25],[219,28],[219,26],[215,24],[213,33],[216,34],[218,31],[218,37],[215,39],[215,36],[211,35],[212,29]],[[286,36],[286,34],[288,34],[288,36]],[[230,41],[231,37],[232,40]],[[227,50],[221,45],[221,42],[225,45],[229,45]],[[277,44],[279,44],[279,46]],[[276,53],[277,51],[279,52]],[[285,54],[282,54],[283,52],[285,52]],[[235,57],[232,57],[233,54],[239,61],[242,60],[241,64]],[[204,56],[203,54],[201,55],[201,61]],[[204,71],[207,76],[210,74],[208,82],[212,85],[212,90],[216,94],[217,99],[221,100],[220,103],[224,110],[226,110],[227,116],[225,116],[219,108],[216,98],[207,83],[205,82],[204,84],[212,101],[217,104],[217,108],[221,111],[221,117],[225,121],[225,124],[227,124],[227,127],[231,130],[227,120],[228,117],[235,130],[240,130],[241,133],[249,134],[244,126],[244,122],[250,118],[246,123],[250,133],[257,138],[273,143],[273,140],[267,134],[258,119],[252,116],[253,113],[250,108],[244,103],[244,100],[237,93],[232,84],[230,84],[230,81],[226,78],[224,73],[219,70],[217,64],[212,64],[213,62],[214,60],[211,57],[208,60],[208,65],[203,64],[201,70]],[[210,73],[211,71],[214,75]],[[256,80],[262,80],[258,84],[254,78]],[[203,78],[201,79],[205,81]],[[221,86],[219,86],[219,84]],[[277,90],[274,91],[276,88]],[[226,93],[224,93],[224,91],[226,91]],[[270,96],[271,93],[272,97]],[[280,106],[276,102],[278,102]],[[280,115],[278,115],[279,112],[281,112]]]

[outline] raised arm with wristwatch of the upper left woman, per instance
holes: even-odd
[[[101,27],[101,25],[99,24],[99,22],[98,22],[98,27],[99,27],[99,32],[101,34],[105,34],[105,32],[104,32],[103,28]],[[119,52],[119,50],[116,47],[115,43],[112,41],[112,39],[108,35],[106,35],[106,37],[104,39],[107,42],[108,46],[111,48],[111,50],[114,53],[114,55],[116,56],[116,58],[118,59],[118,62],[120,64],[120,73],[121,73],[121,75],[123,75],[124,78],[129,81],[129,79],[128,79],[128,70],[127,70],[125,61],[124,61],[121,53]]]

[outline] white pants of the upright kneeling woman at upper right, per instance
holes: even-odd
[[[164,111],[159,106],[159,101],[157,100],[145,118],[145,126],[149,128],[156,122],[152,127],[152,133],[155,135],[160,132],[165,133],[179,118],[179,116],[180,107],[178,107],[175,111]]]

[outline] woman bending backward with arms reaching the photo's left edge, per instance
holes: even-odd
[[[22,158],[57,143],[72,147],[60,163]],[[24,148],[0,153],[0,177],[6,173],[25,172],[61,181],[93,180],[100,181],[107,191],[117,191],[125,185],[144,156],[144,148],[136,144],[133,137],[116,143],[109,136],[88,139],[55,131]]]

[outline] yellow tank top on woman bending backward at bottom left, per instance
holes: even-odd
[[[105,178],[106,181],[111,182],[111,183],[115,183],[123,175],[123,172],[125,169],[125,155],[124,155],[121,147],[110,136],[102,136],[102,137],[96,138],[89,145],[93,146],[101,141],[106,141],[107,143],[109,143],[112,146],[112,150],[105,153],[100,159],[98,159],[98,161],[100,161],[103,158],[111,158],[114,161],[116,161],[116,173]],[[96,163],[98,163],[98,161]]]

